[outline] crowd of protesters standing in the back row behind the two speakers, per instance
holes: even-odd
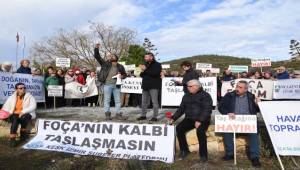
[[[187,93],[186,83],[192,79],[198,79],[199,77],[217,77],[218,84],[218,101],[221,99],[221,87],[224,81],[231,81],[239,78],[246,79],[265,79],[265,80],[281,80],[281,79],[300,79],[300,70],[294,70],[288,72],[284,66],[280,66],[275,69],[269,69],[261,72],[260,70],[253,70],[249,72],[242,73],[232,73],[229,69],[225,68],[222,74],[211,73],[208,69],[205,72],[201,70],[193,69],[192,63],[189,61],[183,61],[181,63],[181,70],[178,71],[169,71],[161,70],[160,78],[164,77],[183,77],[182,81],[176,80],[176,85],[182,85],[184,93]],[[12,63],[3,62],[0,64],[1,72],[13,72]],[[29,60],[22,60],[20,66],[17,69],[16,73],[22,74],[31,74],[33,76],[43,76],[44,85],[45,85],[45,99],[46,107],[53,107],[53,98],[48,97],[47,87],[49,85],[61,85],[65,86],[67,83],[78,82],[82,85],[85,85],[91,77],[96,79],[96,85],[98,87],[98,96],[92,96],[84,100],[79,99],[64,99],[64,97],[58,97],[56,101],[57,107],[63,106],[103,106],[104,97],[103,97],[103,88],[104,84],[98,81],[97,72],[93,69],[88,69],[87,67],[73,67],[70,69],[61,69],[49,66],[45,71],[42,71],[42,68],[31,68]],[[99,74],[99,72],[98,72]],[[140,75],[135,75],[133,71],[126,72],[127,77],[139,77]],[[157,84],[157,83],[156,83]],[[63,93],[64,94],[64,93]],[[158,93],[158,98],[160,99],[160,93]],[[111,96],[111,99],[114,99],[114,96]],[[142,107],[142,95],[141,94],[128,94],[121,93],[120,95],[120,104],[121,107]],[[114,105],[114,100],[111,100],[110,105]],[[152,103],[149,101],[148,103]],[[44,106],[44,104],[39,103],[39,107]]]

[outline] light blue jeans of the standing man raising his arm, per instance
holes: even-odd
[[[110,99],[111,99],[111,94],[113,93],[116,113],[120,113],[121,112],[121,102],[120,102],[121,88],[118,88],[115,84],[107,84],[107,85],[105,84],[103,90],[104,90],[104,111],[110,112]]]

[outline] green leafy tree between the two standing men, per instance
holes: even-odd
[[[146,50],[140,45],[130,45],[128,50],[128,56],[123,58],[121,61],[125,61],[126,64],[135,64],[138,66],[144,62],[144,56]]]

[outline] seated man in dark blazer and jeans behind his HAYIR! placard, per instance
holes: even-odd
[[[228,115],[231,119],[235,115],[256,115],[259,111],[257,102],[259,98],[255,98],[253,94],[248,92],[248,83],[239,81],[233,92],[227,93],[219,105],[219,111],[223,115]],[[233,135],[232,133],[224,133],[224,144],[226,154],[224,161],[233,159]],[[254,167],[260,167],[259,162],[259,140],[258,135],[254,133],[248,134],[250,141],[250,159]]]

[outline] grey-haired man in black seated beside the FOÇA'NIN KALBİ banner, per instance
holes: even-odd
[[[186,132],[196,128],[199,141],[199,154],[202,162],[207,161],[206,131],[210,123],[212,113],[212,98],[203,90],[198,80],[187,82],[189,93],[186,93],[181,101],[180,107],[172,116],[173,123],[183,114],[185,118],[176,127],[177,138],[180,147],[180,157],[185,158],[189,153],[186,141]]]

